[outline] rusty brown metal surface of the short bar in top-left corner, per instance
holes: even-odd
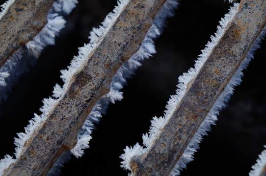
[[[47,23],[54,0],[15,0],[0,19],[0,66]]]

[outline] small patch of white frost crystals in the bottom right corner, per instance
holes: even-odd
[[[264,146],[266,148],[266,146]],[[262,172],[266,167],[266,150],[264,150],[257,159],[257,163],[252,166],[252,169],[249,172],[249,176],[262,176]]]

